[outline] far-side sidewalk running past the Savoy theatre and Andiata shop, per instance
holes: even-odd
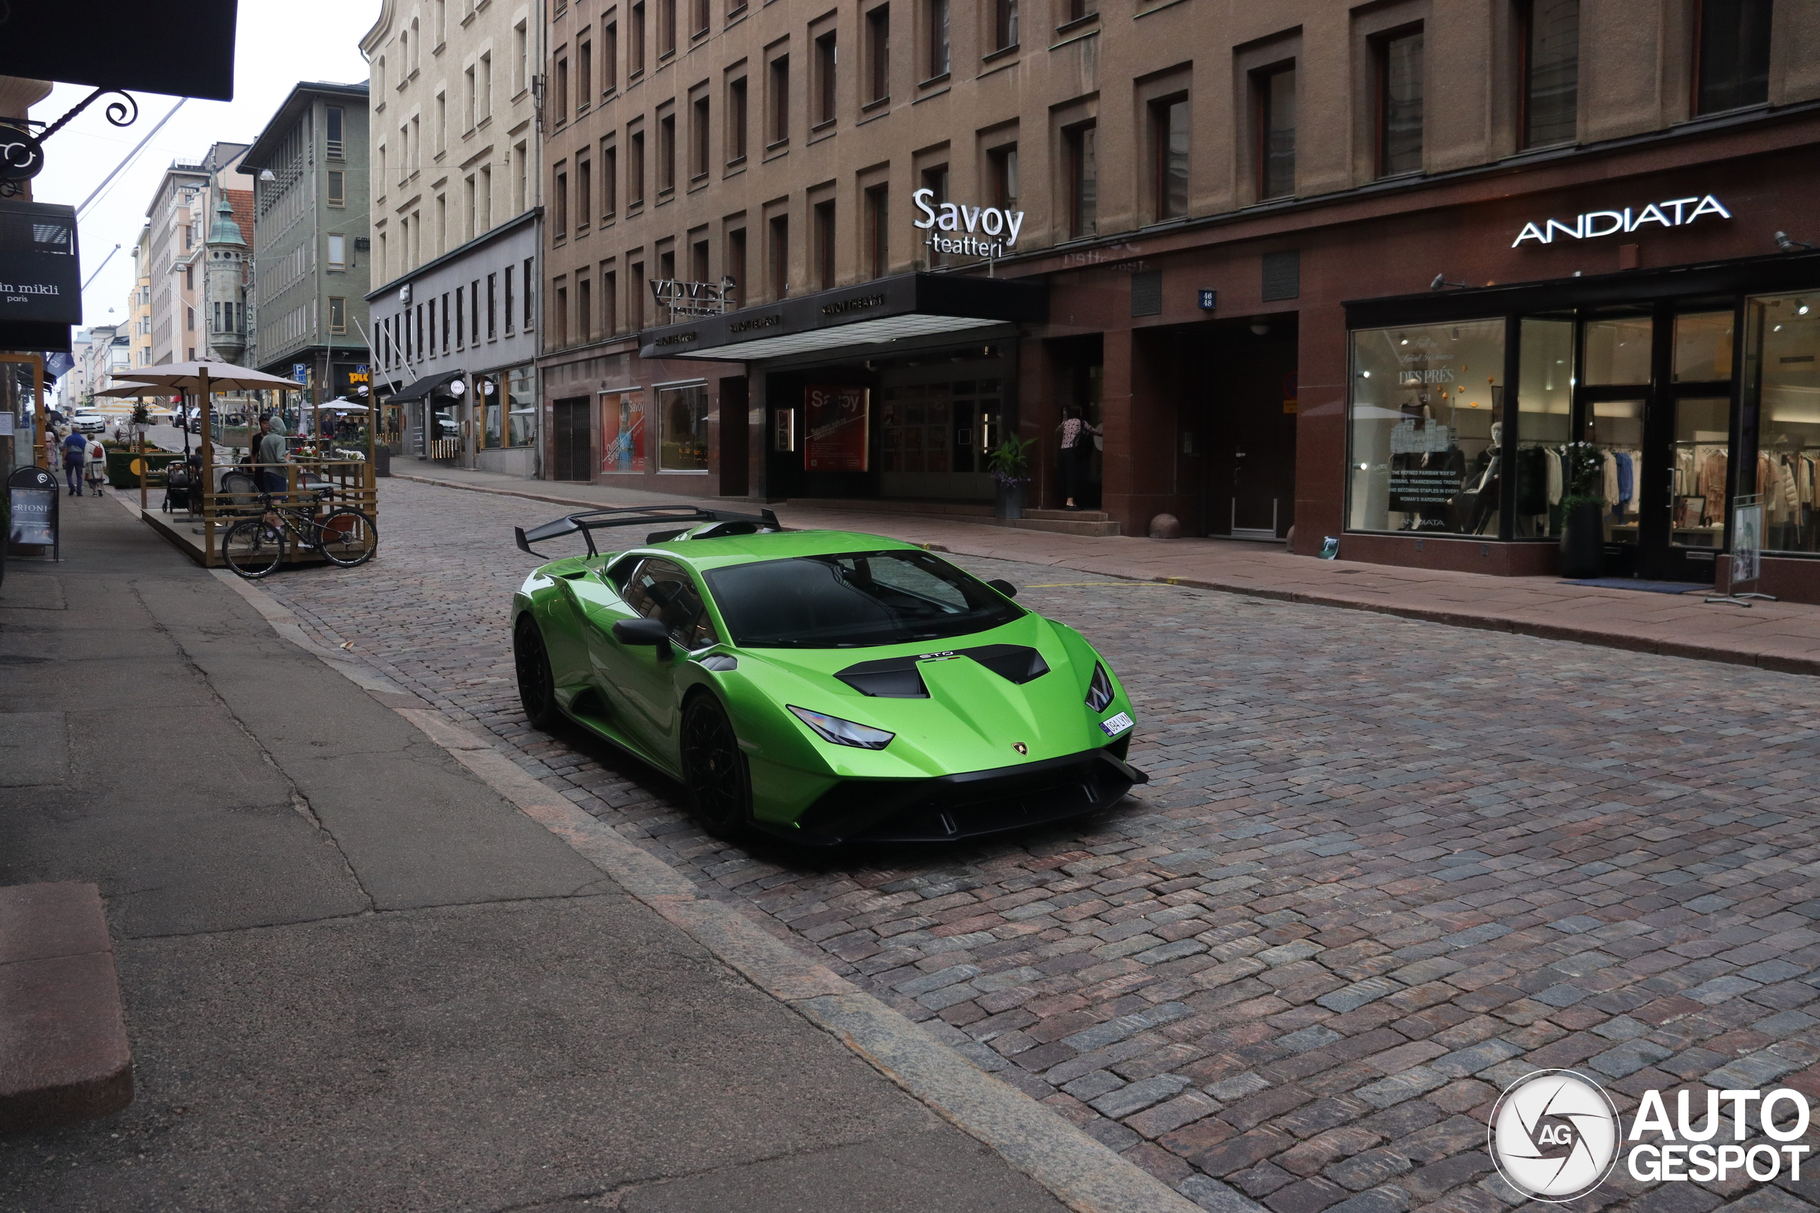
[[[719,500],[730,509],[753,509],[748,502],[733,498],[679,498],[617,486],[519,480],[428,464],[422,467],[426,471],[417,473],[400,460],[393,464],[393,475],[528,496],[566,507],[679,500],[712,506]],[[1090,538],[886,511],[814,509],[801,502],[772,509],[781,522],[794,527],[870,531],[966,556],[1025,560],[1087,575],[1167,580],[1258,598],[1381,611],[1456,627],[1820,675],[1820,607],[1795,602],[1758,602],[1745,609],[1707,604],[1705,596],[1711,591],[1663,595],[1571,586],[1554,576],[1487,576],[1356,560],[1316,560],[1292,556],[1276,544]]]

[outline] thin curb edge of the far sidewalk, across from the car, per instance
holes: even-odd
[[[439,489],[462,489],[466,493],[491,493],[495,496],[522,496],[533,502],[548,502],[551,506],[588,506],[588,502],[575,496],[555,496],[546,493],[521,493],[517,489],[499,489],[490,484],[460,484],[459,480],[437,480],[433,476],[406,476],[393,475],[393,480],[411,480],[417,484],[430,484]],[[906,515],[912,516],[912,515]],[[945,547],[941,544],[921,544],[930,551],[946,551],[961,556],[979,556],[992,560],[1005,560],[1003,551],[968,551],[966,547]],[[1083,569],[1079,564],[1057,564],[1056,567]],[[1097,569],[1083,569],[1094,571]],[[1121,576],[1117,573],[1101,573],[1101,576]],[[1471,615],[1465,611],[1445,611],[1434,607],[1412,607],[1412,606],[1394,606],[1389,602],[1361,602],[1358,598],[1347,598],[1332,593],[1307,591],[1307,589],[1274,589],[1269,586],[1247,586],[1243,582],[1216,582],[1198,576],[1128,576],[1125,580],[1136,582],[1159,582],[1165,586],[1185,586],[1188,589],[1210,589],[1223,595],[1245,595],[1250,598],[1270,598],[1274,602],[1296,602],[1301,606],[1321,606],[1321,607],[1340,607],[1345,611],[1372,611],[1376,615],[1394,615],[1398,618],[1412,618],[1425,624],[1443,624],[1447,627],[1472,627],[1478,631],[1505,631],[1518,637],[1534,637],[1538,640],[1567,640],[1571,644],[1589,644],[1603,649],[1623,649],[1627,653],[1651,653],[1654,657],[1682,657],[1700,662],[1722,662],[1725,666],[1753,666],[1758,669],[1767,669],[1771,673],[1782,675],[1807,675],[1820,677],[1820,660],[1805,657],[1787,657],[1774,653],[1751,653],[1749,649],[1727,649],[1720,646],[1689,644],[1685,640],[1653,640],[1649,637],[1627,637],[1623,633],[1605,633],[1594,631],[1591,627],[1574,627],[1571,624],[1542,624],[1529,622],[1522,618],[1509,618],[1498,615]]]

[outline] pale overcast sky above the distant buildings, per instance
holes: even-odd
[[[200,160],[209,144],[251,144],[298,80],[357,84],[368,78],[360,38],[379,20],[379,0],[240,0],[235,36],[235,87],[231,102],[187,100],[138,158],[120,173],[107,193],[82,213],[82,276],[120,246],[95,284],[82,295],[84,324],[120,324],[127,318],[126,296],[133,289],[133,246],[146,224],[146,207],[171,160]],[[87,85],[58,84],[31,107],[31,116],[56,122],[71,105],[93,93]],[[120,158],[177,104],[175,96],[135,93],[138,122],[107,124],[102,96],[44,145],[46,167],[33,180],[36,202],[82,206]],[[248,178],[251,185],[251,178]],[[246,233],[251,244],[253,233]],[[113,315],[107,309],[113,307]]]

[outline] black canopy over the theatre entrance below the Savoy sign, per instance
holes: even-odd
[[[1043,282],[915,273],[646,329],[639,356],[763,362],[1046,318]]]

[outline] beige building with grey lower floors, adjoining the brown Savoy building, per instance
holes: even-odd
[[[393,453],[531,476],[541,9],[386,0],[371,73],[373,316]]]

